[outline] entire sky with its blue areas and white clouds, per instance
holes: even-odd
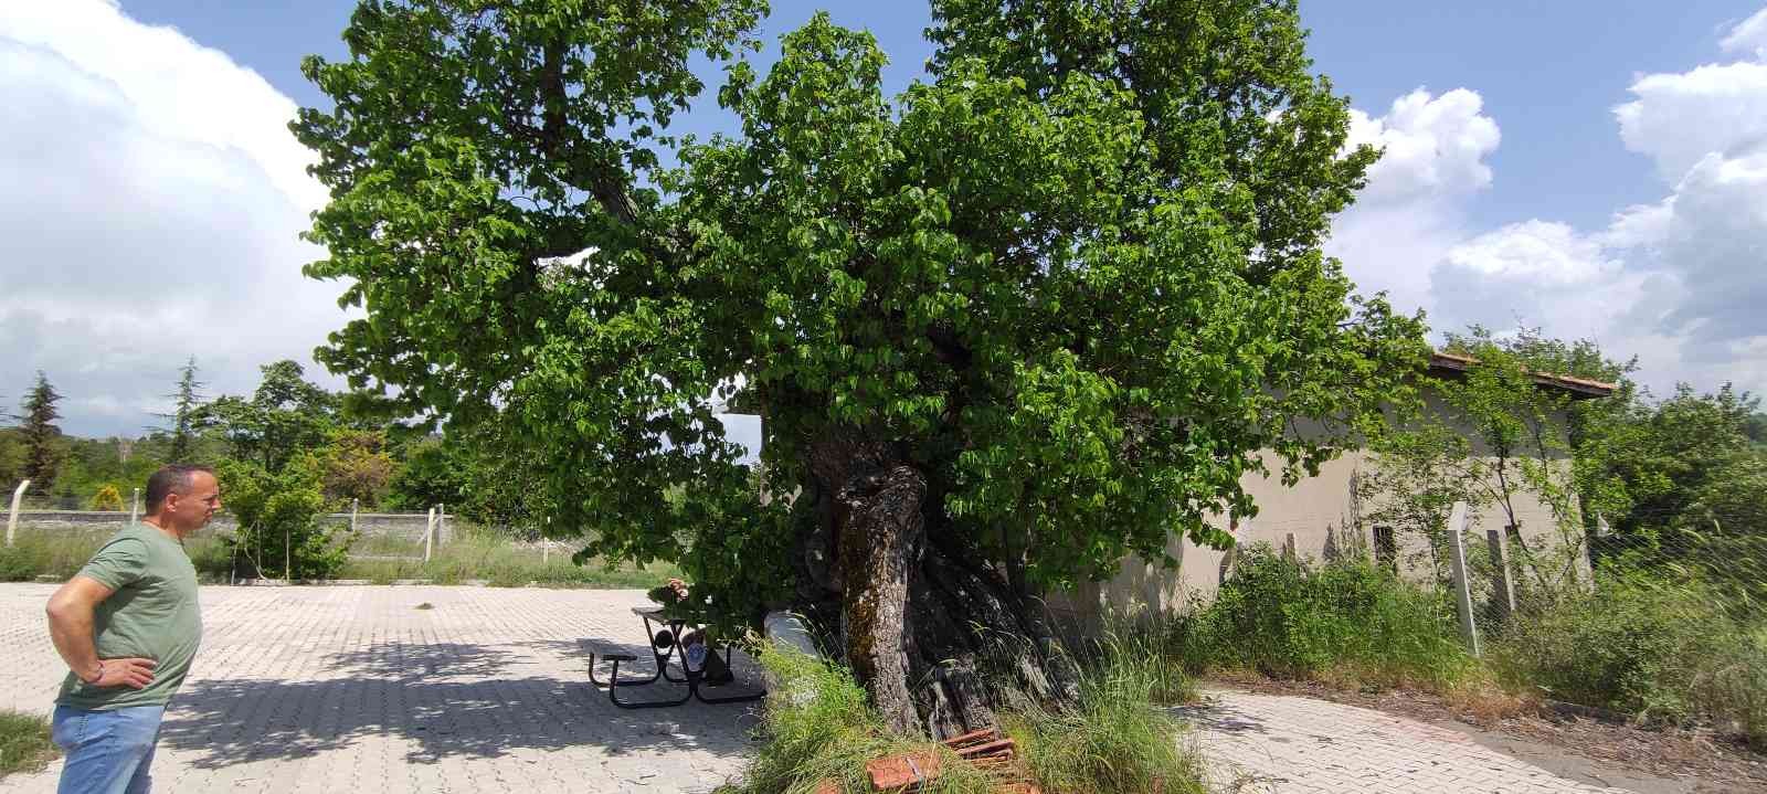
[[[891,88],[921,74],[931,48],[914,2],[776,2],[765,41],[818,7],[878,35]],[[279,124],[323,103],[299,62],[341,57],[352,9],[0,11],[0,92],[28,99],[0,110],[0,168],[27,173],[0,186],[0,210],[23,212],[0,230],[14,239],[0,242],[7,401],[44,368],[69,394],[71,431],[133,431],[189,352],[210,391],[239,393],[256,364],[304,357],[343,322],[334,286],[292,274],[313,251],[288,239],[322,196],[300,184],[304,152]],[[1302,16],[1316,67],[1354,99],[1355,138],[1389,149],[1329,248],[1359,283],[1437,327],[1520,320],[1592,336],[1642,355],[1659,393],[1767,387],[1767,322],[1749,302],[1767,297],[1767,200],[1751,198],[1767,187],[1762,0],[1304,0]],[[728,124],[716,106],[687,122]],[[141,164],[155,157],[175,166]],[[87,170],[39,168],[32,187],[32,166],[69,161]],[[168,260],[212,271],[154,276]],[[143,306],[155,285],[164,299]],[[184,341],[205,334],[221,340]]]

